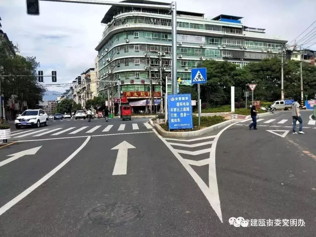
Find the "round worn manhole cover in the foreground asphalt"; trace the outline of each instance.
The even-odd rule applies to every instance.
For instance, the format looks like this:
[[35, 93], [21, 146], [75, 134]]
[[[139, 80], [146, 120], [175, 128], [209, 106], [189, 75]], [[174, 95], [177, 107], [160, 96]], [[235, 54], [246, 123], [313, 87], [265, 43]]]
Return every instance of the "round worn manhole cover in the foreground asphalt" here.
[[88, 222], [96, 225], [118, 226], [142, 216], [140, 207], [131, 204], [112, 203], [94, 207]]

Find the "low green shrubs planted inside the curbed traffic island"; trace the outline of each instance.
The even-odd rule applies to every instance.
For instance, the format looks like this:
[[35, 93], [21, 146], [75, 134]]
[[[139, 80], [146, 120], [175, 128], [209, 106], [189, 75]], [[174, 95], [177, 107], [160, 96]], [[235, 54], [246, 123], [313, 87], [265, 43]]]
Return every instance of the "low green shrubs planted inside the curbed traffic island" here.
[[[193, 129], [173, 129], [170, 130], [172, 132], [189, 132], [189, 131], [197, 131], [204, 127], [210, 127], [215, 124], [219, 124], [226, 121], [223, 116], [201, 116], [200, 126], [198, 126], [198, 117], [193, 116]], [[169, 131], [169, 125], [167, 123], [159, 124], [162, 129], [165, 131]]]

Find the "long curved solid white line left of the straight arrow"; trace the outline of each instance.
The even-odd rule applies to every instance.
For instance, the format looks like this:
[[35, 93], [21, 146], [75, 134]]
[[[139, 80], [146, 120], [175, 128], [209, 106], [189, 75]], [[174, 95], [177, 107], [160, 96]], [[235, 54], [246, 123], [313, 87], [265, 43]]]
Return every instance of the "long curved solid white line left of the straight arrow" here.
[[82, 150], [82, 148], [85, 147], [85, 145], [87, 145], [88, 141], [90, 140], [90, 136], [87, 137], [87, 139], [82, 143], [82, 145], [76, 149], [74, 151], [74, 153], [72, 153], [70, 156], [67, 157], [66, 160], [64, 160], [63, 162], [61, 162], [58, 166], [56, 166], [54, 169], [52, 169], [52, 171], [50, 171], [49, 173], [47, 173], [43, 178], [41, 178], [40, 180], [38, 180], [35, 184], [31, 185], [29, 188], [27, 188], [25, 191], [21, 192], [18, 196], [16, 196], [15, 198], [13, 198], [11, 201], [9, 201], [8, 203], [6, 203], [5, 205], [3, 205], [0, 208], [0, 216], [6, 212], [7, 210], [9, 210], [11, 207], [13, 207], [15, 204], [17, 204], [18, 202], [20, 202], [24, 197], [26, 197], [27, 195], [29, 195], [32, 191], [34, 191], [36, 188], [38, 188], [42, 183], [44, 183], [47, 179], [49, 179], [50, 177], [52, 177], [58, 170], [60, 170], [65, 164], [67, 164], [72, 158], [75, 157], [75, 155], [77, 155], [79, 153], [79, 151]]

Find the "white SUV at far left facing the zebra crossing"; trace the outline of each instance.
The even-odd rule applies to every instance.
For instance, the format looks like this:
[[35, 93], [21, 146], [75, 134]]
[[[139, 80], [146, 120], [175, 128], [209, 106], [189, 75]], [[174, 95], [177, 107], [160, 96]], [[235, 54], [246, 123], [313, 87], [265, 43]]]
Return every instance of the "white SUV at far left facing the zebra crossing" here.
[[15, 119], [15, 127], [35, 126], [39, 128], [41, 124], [48, 125], [48, 116], [42, 109], [27, 109], [19, 117]]

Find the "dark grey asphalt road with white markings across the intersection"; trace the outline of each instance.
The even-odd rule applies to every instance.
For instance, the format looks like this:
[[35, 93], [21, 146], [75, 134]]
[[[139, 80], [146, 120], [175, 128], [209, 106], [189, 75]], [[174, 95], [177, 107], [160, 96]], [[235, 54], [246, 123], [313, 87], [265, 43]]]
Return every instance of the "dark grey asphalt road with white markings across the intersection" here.
[[[285, 137], [266, 130], [291, 130], [289, 112], [193, 139], [163, 138], [148, 119], [12, 129], [16, 143], [0, 149], [0, 236], [313, 236], [310, 114], [306, 134]], [[305, 226], [229, 224], [240, 216]]]

